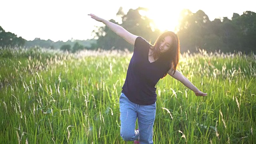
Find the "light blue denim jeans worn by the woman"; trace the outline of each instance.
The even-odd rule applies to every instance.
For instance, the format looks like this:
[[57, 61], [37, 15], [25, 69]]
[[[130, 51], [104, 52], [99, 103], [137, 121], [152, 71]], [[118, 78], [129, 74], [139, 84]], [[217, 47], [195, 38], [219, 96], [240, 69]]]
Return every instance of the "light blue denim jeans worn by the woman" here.
[[[140, 139], [140, 144], [153, 144], [153, 125], [156, 117], [156, 102], [144, 106], [134, 104], [123, 93], [120, 99], [120, 136], [125, 141]], [[138, 118], [138, 131], [135, 130]]]

